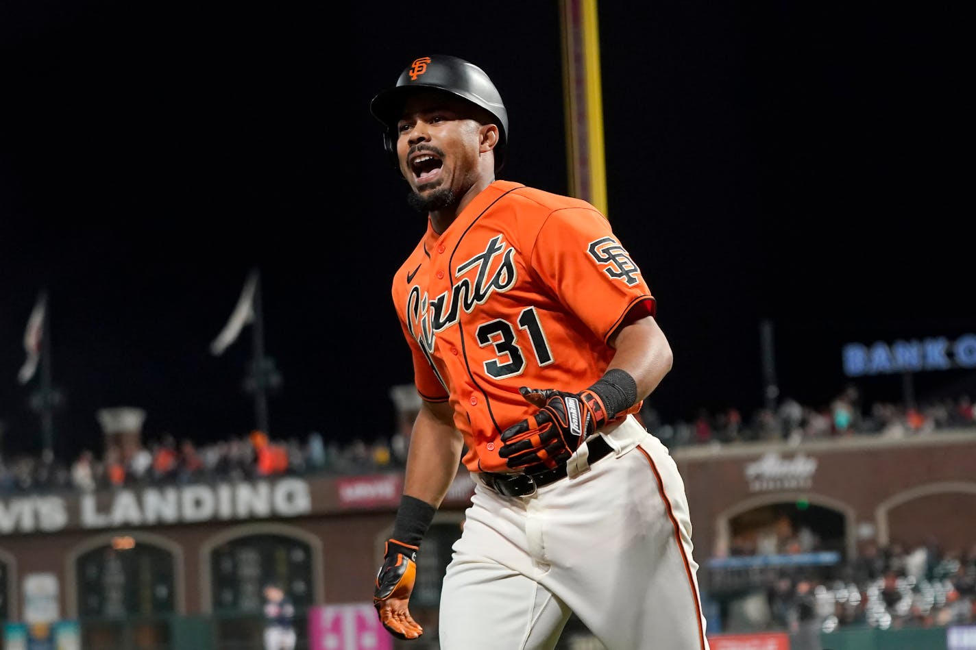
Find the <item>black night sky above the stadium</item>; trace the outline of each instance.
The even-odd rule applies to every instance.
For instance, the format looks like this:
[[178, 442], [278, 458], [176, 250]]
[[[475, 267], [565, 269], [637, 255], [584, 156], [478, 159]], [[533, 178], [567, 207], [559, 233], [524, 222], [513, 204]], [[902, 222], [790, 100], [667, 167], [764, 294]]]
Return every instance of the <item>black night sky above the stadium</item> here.
[[[502, 178], [568, 191], [558, 5], [221, 6], [18, 0], [0, 8], [0, 422], [40, 447], [21, 338], [50, 295], [56, 450], [101, 448], [97, 409], [146, 437], [254, 427], [260, 266], [283, 376], [273, 437], [372, 440], [411, 381], [389, 299], [425, 219], [368, 103], [419, 56], [481, 65], [510, 120]], [[473, 4], [473, 3], [472, 3]], [[666, 421], [784, 395], [826, 403], [840, 346], [976, 329], [960, 17], [885, 3], [600, 3], [608, 217], [659, 300]], [[965, 116], [965, 117], [963, 117]], [[3, 379], [6, 378], [6, 379]], [[921, 398], [973, 373], [920, 373]], [[865, 380], [898, 400], [898, 378]]]

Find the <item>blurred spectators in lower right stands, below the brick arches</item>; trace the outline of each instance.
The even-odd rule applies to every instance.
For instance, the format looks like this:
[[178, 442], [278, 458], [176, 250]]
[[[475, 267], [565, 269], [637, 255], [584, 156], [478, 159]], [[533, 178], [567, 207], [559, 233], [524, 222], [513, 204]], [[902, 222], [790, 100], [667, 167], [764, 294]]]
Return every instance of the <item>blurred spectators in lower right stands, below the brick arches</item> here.
[[943, 548], [932, 538], [920, 545], [893, 540], [883, 547], [865, 540], [853, 557], [837, 555], [834, 563], [771, 561], [815, 558], [836, 546], [837, 541], [825, 544], [786, 515], [737, 536], [729, 555], [767, 561], [712, 568], [712, 589], [754, 596], [762, 586], [767, 614], [736, 622], [726, 606], [723, 618], [732, 619], [733, 627], [800, 635], [803, 630], [819, 633], [847, 626], [887, 630], [976, 624], [976, 538], [967, 548]]

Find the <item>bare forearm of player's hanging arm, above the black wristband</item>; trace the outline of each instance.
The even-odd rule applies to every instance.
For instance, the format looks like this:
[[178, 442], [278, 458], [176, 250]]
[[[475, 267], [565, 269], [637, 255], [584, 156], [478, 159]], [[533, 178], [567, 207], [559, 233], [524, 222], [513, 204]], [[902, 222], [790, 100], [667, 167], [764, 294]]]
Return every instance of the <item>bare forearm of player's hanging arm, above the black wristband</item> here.
[[407, 454], [403, 493], [440, 507], [458, 473], [464, 439], [447, 405], [422, 408], [414, 423]]

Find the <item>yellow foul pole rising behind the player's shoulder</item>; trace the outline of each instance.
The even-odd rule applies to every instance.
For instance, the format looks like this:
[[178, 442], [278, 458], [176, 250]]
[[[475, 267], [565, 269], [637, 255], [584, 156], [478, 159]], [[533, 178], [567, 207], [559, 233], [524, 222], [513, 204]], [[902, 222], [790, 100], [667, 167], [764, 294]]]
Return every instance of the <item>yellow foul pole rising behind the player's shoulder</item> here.
[[560, 0], [569, 193], [607, 214], [596, 0]]

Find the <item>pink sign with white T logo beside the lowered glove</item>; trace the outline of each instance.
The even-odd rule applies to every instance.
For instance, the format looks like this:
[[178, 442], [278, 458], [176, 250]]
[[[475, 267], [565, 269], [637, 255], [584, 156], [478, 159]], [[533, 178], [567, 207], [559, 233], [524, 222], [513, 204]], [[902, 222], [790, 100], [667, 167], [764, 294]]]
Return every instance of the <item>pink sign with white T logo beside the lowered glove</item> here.
[[392, 650], [372, 603], [308, 608], [308, 650]]

